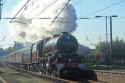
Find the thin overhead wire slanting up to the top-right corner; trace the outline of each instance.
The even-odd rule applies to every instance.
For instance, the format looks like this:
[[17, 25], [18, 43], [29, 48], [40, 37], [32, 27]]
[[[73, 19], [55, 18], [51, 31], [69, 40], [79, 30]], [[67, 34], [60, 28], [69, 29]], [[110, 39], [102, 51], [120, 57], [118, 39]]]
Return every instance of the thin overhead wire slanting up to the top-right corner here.
[[102, 8], [102, 9], [99, 9], [99, 10], [97, 10], [97, 11], [88, 13], [88, 14], [85, 15], [85, 17], [86, 17], [86, 16], [93, 15], [93, 14], [96, 14], [96, 13], [98, 13], [98, 12], [101, 12], [101, 11], [103, 11], [103, 10], [105, 10], [105, 9], [111, 8], [111, 7], [115, 6], [115, 5], [118, 5], [118, 4], [123, 3], [123, 2], [125, 2], [125, 0], [121, 0], [121, 1], [119, 1], [119, 2], [117, 2], [117, 3], [114, 3], [114, 4], [112, 4], [112, 5], [109, 5], [109, 6], [107, 6], [107, 7]]

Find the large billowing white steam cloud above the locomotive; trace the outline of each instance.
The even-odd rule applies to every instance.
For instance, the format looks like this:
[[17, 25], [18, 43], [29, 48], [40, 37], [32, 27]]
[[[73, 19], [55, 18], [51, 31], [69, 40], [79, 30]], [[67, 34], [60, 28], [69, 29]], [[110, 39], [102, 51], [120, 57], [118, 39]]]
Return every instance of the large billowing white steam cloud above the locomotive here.
[[[14, 10], [12, 16], [19, 11], [26, 0], [22, 0]], [[68, 4], [59, 17], [52, 23], [53, 19], [65, 6], [67, 0], [31, 0], [20, 14], [10, 24], [11, 37], [16, 40], [30, 42], [38, 41], [44, 37], [50, 37], [62, 32], [75, 31], [76, 13], [72, 4]], [[37, 19], [51, 18], [51, 19]]]

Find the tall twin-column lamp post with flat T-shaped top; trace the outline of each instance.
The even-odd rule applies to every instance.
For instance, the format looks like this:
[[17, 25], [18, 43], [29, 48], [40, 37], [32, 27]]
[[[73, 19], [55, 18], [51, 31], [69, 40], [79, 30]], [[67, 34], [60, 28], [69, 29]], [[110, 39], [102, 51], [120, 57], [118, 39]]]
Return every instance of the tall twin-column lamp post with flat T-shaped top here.
[[108, 67], [108, 31], [107, 31], [107, 18], [110, 19], [110, 56], [112, 56], [112, 17], [118, 17], [117, 15], [112, 16], [95, 16], [95, 18], [105, 17], [106, 19], [106, 55], [107, 55], [107, 67]]

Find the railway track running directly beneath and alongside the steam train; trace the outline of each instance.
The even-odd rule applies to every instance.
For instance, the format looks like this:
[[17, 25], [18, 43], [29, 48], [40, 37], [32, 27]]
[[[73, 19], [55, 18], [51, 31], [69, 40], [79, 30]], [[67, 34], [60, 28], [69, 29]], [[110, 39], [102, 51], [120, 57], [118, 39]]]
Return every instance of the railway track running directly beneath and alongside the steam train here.
[[9, 64], [7, 64], [7, 66], [10, 67], [11, 69], [15, 70], [15, 71], [22, 72], [22, 73], [28, 73], [32, 76], [35, 76], [35, 77], [41, 78], [43, 80], [46, 80], [46, 81], [48, 81], [48, 83], [106, 83], [106, 82], [103, 82], [103, 81], [92, 81], [92, 80], [87, 80], [87, 79], [84, 79], [82, 81], [71, 81], [71, 80], [66, 80], [66, 79], [62, 79], [62, 78], [41, 75], [40, 73], [20, 69], [20, 68], [14, 67], [14, 66], [9, 65]]

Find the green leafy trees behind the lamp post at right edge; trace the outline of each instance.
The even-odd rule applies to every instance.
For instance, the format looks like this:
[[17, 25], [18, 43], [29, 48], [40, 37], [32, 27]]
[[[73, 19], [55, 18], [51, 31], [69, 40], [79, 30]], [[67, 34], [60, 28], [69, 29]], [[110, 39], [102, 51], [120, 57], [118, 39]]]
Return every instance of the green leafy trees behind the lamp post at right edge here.
[[[109, 50], [109, 43], [108, 43], [108, 50]], [[103, 53], [104, 58], [106, 58], [106, 49], [107, 49], [106, 42], [102, 42], [101, 44], [97, 44], [96, 52], [100, 51]], [[108, 54], [108, 60], [111, 63], [125, 63], [125, 41], [123, 39], [119, 39], [118, 37], [113, 41], [112, 44], [112, 56]]]

